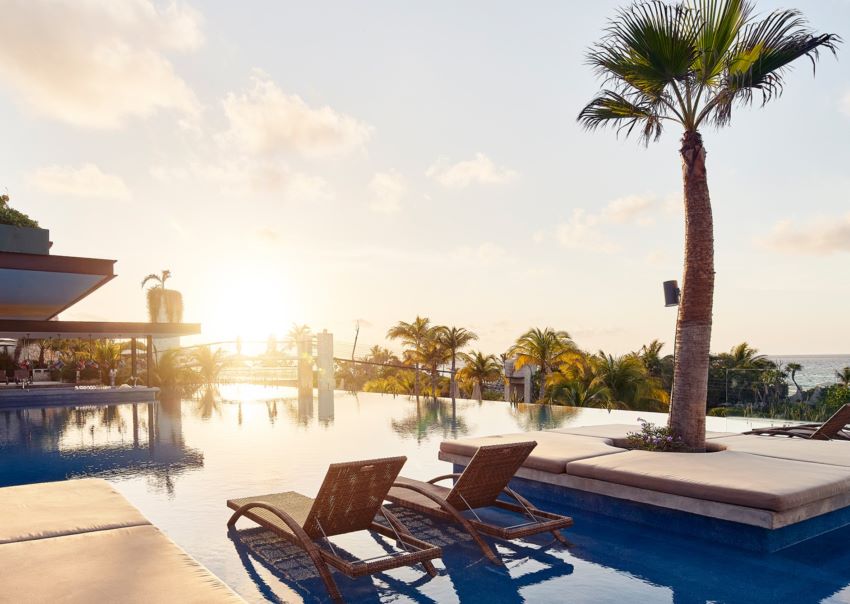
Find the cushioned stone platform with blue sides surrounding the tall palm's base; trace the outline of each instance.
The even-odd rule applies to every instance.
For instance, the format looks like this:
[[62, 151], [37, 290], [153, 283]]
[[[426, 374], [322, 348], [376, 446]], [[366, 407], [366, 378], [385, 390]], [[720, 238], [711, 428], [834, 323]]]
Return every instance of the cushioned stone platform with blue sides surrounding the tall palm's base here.
[[443, 441], [459, 471], [484, 444], [536, 440], [512, 486], [578, 508], [756, 551], [850, 525], [850, 442], [709, 433], [706, 454], [629, 451], [625, 424]]

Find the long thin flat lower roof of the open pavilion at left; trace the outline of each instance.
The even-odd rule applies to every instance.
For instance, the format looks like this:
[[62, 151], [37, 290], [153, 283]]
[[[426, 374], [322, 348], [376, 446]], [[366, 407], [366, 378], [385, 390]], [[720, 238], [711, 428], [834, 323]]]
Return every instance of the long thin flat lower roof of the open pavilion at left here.
[[121, 323], [114, 321], [36, 321], [0, 319], [0, 338], [32, 340], [83, 338], [177, 338], [201, 333], [200, 323]]

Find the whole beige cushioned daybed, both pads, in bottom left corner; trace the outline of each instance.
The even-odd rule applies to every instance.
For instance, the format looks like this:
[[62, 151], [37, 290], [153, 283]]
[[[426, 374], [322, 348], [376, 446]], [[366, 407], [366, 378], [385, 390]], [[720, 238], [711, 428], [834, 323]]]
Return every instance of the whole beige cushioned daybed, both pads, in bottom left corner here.
[[0, 489], [9, 602], [244, 602], [99, 479]]

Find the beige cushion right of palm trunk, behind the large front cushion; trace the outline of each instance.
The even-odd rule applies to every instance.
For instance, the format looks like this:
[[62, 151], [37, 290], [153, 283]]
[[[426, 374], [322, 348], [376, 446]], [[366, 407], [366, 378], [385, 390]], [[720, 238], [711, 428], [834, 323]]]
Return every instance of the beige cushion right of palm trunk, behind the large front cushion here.
[[843, 440], [741, 434], [715, 442], [725, 445], [730, 451], [850, 467], [850, 442]]

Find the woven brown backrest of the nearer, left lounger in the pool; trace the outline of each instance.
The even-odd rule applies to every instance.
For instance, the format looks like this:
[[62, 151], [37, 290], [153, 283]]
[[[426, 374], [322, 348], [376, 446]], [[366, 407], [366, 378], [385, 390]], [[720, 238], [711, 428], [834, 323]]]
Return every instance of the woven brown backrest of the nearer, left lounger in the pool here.
[[402, 456], [331, 464], [304, 530], [319, 538], [368, 528], [405, 461]]

